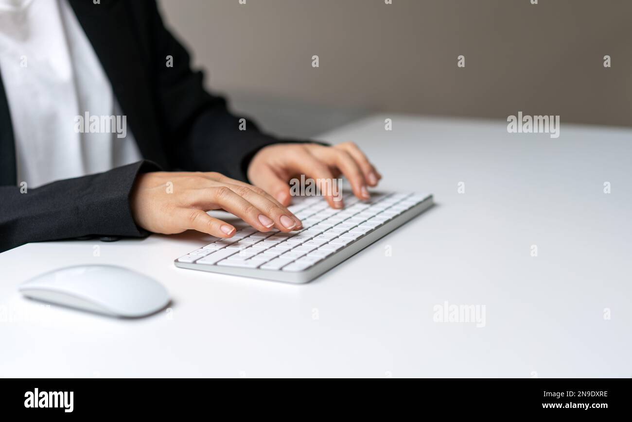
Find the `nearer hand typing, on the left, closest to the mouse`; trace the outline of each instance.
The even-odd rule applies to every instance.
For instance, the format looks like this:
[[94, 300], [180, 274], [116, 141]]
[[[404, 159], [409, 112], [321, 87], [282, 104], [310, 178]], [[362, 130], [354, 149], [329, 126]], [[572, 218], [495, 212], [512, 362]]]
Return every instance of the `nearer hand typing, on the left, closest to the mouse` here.
[[289, 232], [302, 227], [288, 208], [265, 191], [216, 172], [150, 172], [140, 174], [130, 196], [135, 222], [164, 234], [194, 229], [230, 238], [235, 228], [210, 217], [207, 210], [224, 209], [258, 231], [276, 227]]

